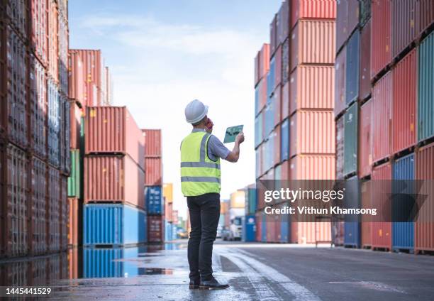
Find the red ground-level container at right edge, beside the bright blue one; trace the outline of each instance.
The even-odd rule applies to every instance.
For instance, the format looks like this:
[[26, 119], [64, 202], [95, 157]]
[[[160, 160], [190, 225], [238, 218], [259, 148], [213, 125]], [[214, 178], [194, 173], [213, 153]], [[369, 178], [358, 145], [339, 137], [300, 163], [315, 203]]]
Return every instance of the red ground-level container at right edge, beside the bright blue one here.
[[[434, 180], [434, 143], [424, 146], [416, 153], [416, 180]], [[429, 187], [430, 181], [419, 190], [419, 194], [429, 195], [425, 200], [425, 208], [419, 210], [418, 219], [415, 223], [415, 251], [434, 251], [434, 222], [432, 221], [433, 213], [433, 191]], [[428, 222], [430, 221], [430, 222]]]

